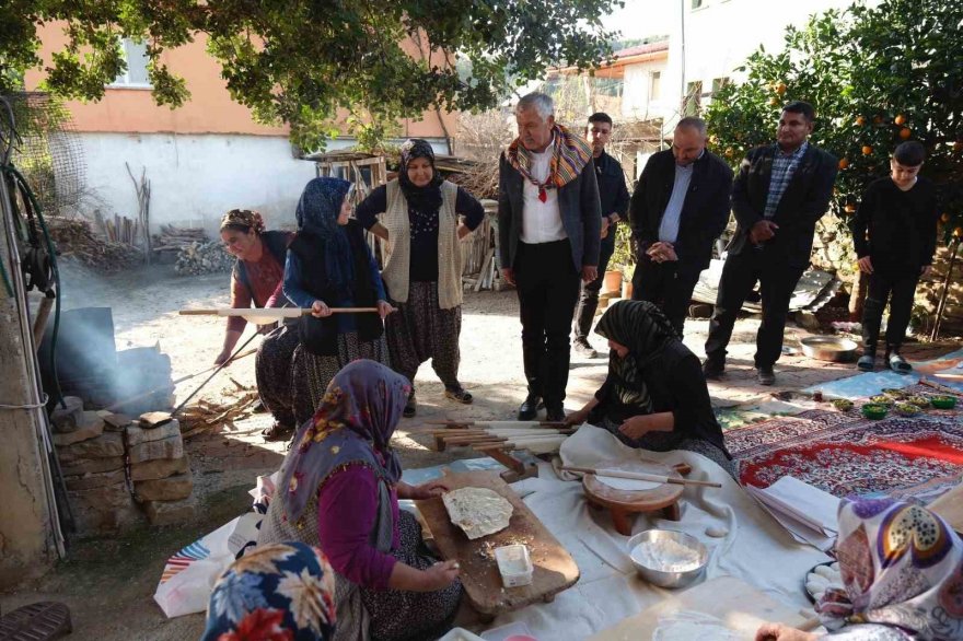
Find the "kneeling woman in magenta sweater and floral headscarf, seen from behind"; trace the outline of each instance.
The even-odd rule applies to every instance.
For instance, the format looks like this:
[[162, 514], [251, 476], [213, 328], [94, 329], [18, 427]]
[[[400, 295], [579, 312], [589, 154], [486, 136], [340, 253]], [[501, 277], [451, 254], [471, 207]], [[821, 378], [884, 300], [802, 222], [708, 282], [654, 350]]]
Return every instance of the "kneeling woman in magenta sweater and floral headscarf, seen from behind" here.
[[281, 466], [278, 496], [258, 544], [318, 546], [335, 570], [335, 639], [433, 639], [448, 629], [461, 598], [457, 563], [438, 562], [421, 526], [398, 499], [445, 490], [413, 487], [391, 438], [408, 398], [408, 381], [380, 363], [355, 361], [332, 381], [314, 417], [298, 430]]

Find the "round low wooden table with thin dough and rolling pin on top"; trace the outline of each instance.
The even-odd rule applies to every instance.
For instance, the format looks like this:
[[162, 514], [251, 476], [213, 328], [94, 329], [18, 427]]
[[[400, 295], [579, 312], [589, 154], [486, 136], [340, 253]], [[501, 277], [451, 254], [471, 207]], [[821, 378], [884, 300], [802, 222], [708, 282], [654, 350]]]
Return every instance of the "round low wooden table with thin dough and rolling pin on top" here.
[[[645, 471], [674, 478], [682, 478], [682, 474], [689, 471], [687, 465], [669, 467], [654, 461], [599, 463], [594, 467], [595, 469]], [[631, 516], [635, 514], [661, 510], [665, 518], [678, 521], [678, 497], [685, 489], [685, 486], [662, 483], [651, 490], [616, 490], [600, 481], [594, 474], [587, 474], [582, 478], [582, 486], [585, 488], [585, 499], [589, 504], [608, 510], [616, 532], [623, 536], [631, 535]]]

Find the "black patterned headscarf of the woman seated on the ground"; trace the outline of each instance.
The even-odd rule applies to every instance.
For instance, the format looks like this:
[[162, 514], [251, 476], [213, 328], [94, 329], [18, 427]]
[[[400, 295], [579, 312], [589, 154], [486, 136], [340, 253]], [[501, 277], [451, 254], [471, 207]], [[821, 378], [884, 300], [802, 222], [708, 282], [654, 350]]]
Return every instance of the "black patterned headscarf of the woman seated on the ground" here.
[[671, 340], [682, 339], [678, 331], [657, 305], [618, 301], [599, 319], [595, 334], [628, 348], [625, 358], [615, 352], [608, 357], [608, 375], [618, 400], [651, 413], [652, 398], [641, 370], [661, 357]]

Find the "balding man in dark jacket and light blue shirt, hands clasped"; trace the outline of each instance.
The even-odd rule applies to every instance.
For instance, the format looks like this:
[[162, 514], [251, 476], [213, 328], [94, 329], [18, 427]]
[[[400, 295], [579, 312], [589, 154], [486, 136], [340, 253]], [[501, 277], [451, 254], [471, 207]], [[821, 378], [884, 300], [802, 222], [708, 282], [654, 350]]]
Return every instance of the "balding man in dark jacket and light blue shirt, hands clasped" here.
[[633, 195], [633, 299], [662, 308], [682, 334], [699, 273], [729, 222], [732, 170], [706, 150], [706, 123], [683, 118], [672, 149], [652, 154]]

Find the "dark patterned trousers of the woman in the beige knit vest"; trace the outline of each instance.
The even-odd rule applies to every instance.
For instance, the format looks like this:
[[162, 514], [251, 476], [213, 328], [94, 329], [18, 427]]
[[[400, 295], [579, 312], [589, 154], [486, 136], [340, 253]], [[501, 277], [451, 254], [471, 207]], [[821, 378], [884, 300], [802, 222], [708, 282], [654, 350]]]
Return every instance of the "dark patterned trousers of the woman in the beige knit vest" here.
[[394, 303], [398, 308], [385, 319], [392, 369], [415, 383], [415, 374], [425, 361], [445, 387], [459, 387], [459, 335], [462, 333], [462, 307], [438, 306], [437, 282], [411, 282], [408, 302]]

